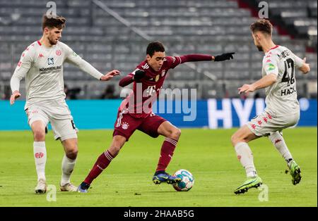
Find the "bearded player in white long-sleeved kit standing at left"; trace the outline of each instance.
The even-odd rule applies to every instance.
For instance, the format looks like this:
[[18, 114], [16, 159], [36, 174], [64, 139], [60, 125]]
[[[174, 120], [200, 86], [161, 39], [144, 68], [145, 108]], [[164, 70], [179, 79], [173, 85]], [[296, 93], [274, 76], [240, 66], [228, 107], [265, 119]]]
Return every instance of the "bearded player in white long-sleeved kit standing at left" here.
[[11, 78], [13, 94], [10, 103], [12, 105], [20, 96], [20, 80], [25, 77], [25, 113], [28, 115], [28, 124], [33, 131], [34, 138], [33, 150], [37, 171], [36, 194], [44, 194], [47, 188], [45, 130], [49, 122], [52, 125], [54, 139], [60, 139], [65, 151], [61, 163], [60, 189], [61, 191], [77, 191], [77, 187], [70, 182], [78, 153], [77, 129], [65, 102], [63, 63], [72, 63], [102, 81], [110, 80], [115, 75], [119, 75], [118, 70], [112, 70], [106, 75], [102, 75], [73, 52], [69, 46], [59, 42], [65, 22], [66, 19], [60, 16], [54, 18], [43, 16], [42, 38], [30, 44], [23, 51]]

